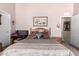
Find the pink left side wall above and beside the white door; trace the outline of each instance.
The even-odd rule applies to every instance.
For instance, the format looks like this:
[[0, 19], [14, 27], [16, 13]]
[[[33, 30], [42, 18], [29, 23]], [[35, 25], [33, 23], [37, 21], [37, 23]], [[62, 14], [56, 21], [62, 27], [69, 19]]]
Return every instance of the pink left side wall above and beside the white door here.
[[[15, 20], [15, 4], [14, 3], [0, 3], [0, 9], [6, 11], [11, 15], [11, 20]], [[11, 32], [15, 30], [14, 26], [11, 24]]]

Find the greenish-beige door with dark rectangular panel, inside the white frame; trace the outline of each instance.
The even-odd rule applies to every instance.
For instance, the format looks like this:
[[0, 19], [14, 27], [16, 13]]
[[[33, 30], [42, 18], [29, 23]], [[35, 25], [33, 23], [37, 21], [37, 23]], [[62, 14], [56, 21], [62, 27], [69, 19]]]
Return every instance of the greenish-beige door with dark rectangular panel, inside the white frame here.
[[71, 17], [62, 17], [62, 38], [64, 42], [70, 43]]

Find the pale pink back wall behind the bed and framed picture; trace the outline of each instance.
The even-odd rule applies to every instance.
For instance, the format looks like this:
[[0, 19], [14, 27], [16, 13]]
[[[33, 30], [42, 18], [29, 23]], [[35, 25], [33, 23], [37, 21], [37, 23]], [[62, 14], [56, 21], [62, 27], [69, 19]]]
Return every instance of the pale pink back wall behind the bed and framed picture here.
[[[61, 28], [57, 28], [60, 23], [60, 16], [65, 12], [73, 14], [73, 4], [53, 3], [53, 4], [19, 4], [15, 5], [16, 29], [30, 29], [33, 27], [33, 16], [48, 16], [48, 27], [51, 27], [51, 36], [61, 37]], [[61, 23], [60, 23], [61, 24]]]

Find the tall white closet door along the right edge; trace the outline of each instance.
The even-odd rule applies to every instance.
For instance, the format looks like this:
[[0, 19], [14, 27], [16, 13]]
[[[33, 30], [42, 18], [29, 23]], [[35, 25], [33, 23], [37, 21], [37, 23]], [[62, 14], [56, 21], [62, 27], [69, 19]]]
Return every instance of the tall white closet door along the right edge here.
[[71, 44], [79, 48], [79, 14], [71, 20]]

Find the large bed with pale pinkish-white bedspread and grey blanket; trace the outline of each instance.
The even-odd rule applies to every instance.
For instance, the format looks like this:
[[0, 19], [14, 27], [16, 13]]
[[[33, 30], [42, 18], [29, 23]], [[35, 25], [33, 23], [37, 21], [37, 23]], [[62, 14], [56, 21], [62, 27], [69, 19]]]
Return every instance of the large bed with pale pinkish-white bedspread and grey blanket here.
[[[26, 39], [25, 39], [26, 40]], [[6, 48], [2, 56], [74, 56], [73, 52], [62, 44], [52, 40], [22, 40]], [[36, 43], [35, 43], [36, 42]], [[41, 42], [41, 43], [40, 43]]]

